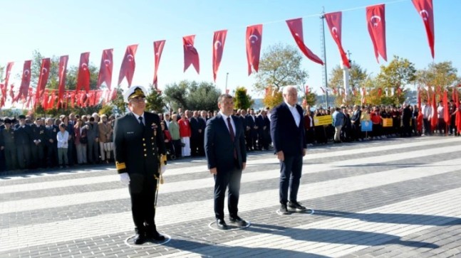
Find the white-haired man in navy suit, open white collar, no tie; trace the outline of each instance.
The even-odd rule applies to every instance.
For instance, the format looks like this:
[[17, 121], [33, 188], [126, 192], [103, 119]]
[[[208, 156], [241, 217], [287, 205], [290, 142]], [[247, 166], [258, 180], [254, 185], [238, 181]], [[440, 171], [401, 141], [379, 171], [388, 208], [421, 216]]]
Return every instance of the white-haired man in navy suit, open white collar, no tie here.
[[280, 161], [280, 213], [289, 214], [288, 201], [291, 210], [306, 210], [298, 203], [297, 195], [307, 141], [302, 120], [303, 109], [296, 104], [296, 87], [284, 87], [283, 97], [284, 102], [271, 112], [271, 137], [275, 154]]

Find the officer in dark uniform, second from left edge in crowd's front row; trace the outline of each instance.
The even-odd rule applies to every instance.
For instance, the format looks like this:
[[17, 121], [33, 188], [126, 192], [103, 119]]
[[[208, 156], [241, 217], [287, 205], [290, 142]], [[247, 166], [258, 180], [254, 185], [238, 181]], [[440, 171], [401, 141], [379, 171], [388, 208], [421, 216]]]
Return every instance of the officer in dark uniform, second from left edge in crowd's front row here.
[[14, 129], [14, 142], [18, 151], [19, 168], [25, 169], [31, 166], [31, 142], [32, 129], [26, 124], [26, 116], [19, 116], [19, 124]]

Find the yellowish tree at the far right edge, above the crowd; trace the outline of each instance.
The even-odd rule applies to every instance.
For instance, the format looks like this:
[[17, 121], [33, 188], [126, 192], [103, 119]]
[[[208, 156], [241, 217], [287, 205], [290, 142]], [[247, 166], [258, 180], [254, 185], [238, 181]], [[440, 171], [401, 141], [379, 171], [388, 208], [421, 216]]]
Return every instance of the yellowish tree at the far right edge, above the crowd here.
[[[459, 80], [457, 69], [453, 67], [451, 61], [430, 63], [428, 68], [416, 72], [416, 82], [418, 82], [418, 85], [433, 87], [432, 90], [435, 92], [442, 92]], [[427, 96], [425, 92], [426, 90], [421, 92], [422, 96]], [[451, 91], [448, 92], [451, 95]]]

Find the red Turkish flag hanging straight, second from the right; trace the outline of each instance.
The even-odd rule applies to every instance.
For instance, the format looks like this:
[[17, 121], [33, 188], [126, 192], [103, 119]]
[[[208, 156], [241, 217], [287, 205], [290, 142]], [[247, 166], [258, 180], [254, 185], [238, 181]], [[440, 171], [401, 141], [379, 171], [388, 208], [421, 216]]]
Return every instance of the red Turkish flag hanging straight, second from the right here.
[[384, 4], [368, 6], [366, 8], [366, 23], [368, 24], [368, 33], [370, 33], [373, 48], [375, 49], [376, 61], [379, 63], [378, 55], [381, 55], [387, 62], [388, 55], [385, 50]]

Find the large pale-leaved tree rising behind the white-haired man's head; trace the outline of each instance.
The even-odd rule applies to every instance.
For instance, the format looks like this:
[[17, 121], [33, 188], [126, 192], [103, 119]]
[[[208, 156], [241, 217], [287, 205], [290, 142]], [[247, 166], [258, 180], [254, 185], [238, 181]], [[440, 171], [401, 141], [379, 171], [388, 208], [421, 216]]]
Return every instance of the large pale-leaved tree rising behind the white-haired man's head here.
[[299, 50], [292, 45], [279, 43], [269, 46], [259, 61], [254, 90], [263, 92], [269, 85], [276, 90], [286, 85], [297, 85], [302, 90], [309, 77], [307, 71], [301, 69], [302, 59]]

